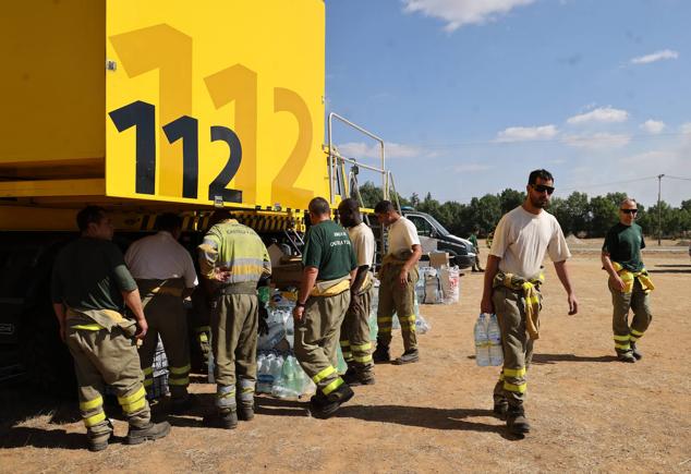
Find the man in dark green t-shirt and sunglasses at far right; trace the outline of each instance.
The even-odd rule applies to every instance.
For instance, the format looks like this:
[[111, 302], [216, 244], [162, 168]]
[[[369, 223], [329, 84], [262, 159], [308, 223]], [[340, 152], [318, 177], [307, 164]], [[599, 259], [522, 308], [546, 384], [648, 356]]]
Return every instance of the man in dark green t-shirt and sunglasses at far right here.
[[[627, 197], [619, 206], [619, 222], [609, 229], [603, 245], [603, 268], [609, 274], [609, 291], [614, 306], [613, 331], [617, 358], [633, 363], [643, 357], [637, 341], [643, 337], [653, 319], [648, 293], [654, 289], [641, 259], [645, 240], [634, 222], [635, 199]], [[629, 309], [633, 319], [629, 327]]]

